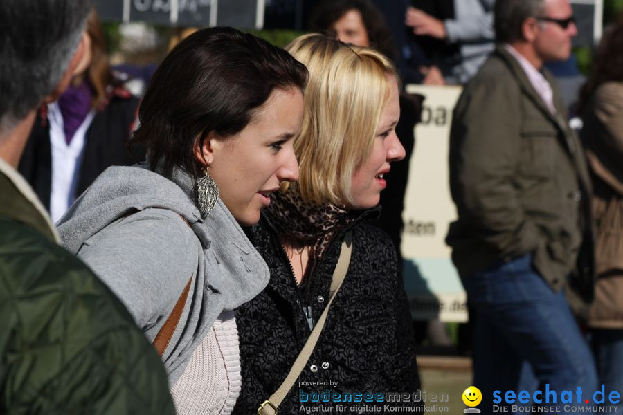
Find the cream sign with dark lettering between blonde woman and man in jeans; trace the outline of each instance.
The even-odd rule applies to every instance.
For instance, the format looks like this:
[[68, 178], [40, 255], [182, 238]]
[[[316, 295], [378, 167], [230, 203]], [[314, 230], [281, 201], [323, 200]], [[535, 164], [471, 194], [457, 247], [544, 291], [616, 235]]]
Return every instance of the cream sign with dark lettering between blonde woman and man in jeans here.
[[439, 318], [467, 322], [467, 296], [445, 238], [456, 218], [450, 196], [448, 145], [452, 111], [459, 86], [407, 85], [408, 93], [426, 97], [422, 122], [415, 127], [404, 201], [404, 285], [415, 320]]

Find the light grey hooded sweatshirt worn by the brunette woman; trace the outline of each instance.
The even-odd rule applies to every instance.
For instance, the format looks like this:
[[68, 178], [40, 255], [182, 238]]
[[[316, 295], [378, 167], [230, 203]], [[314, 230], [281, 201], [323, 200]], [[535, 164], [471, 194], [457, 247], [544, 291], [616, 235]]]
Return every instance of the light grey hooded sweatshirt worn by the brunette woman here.
[[193, 189], [180, 170], [168, 179], [144, 164], [109, 167], [58, 223], [65, 248], [114, 291], [151, 342], [192, 277], [162, 356], [170, 385], [219, 314], [269, 281], [264, 260], [223, 202], [201, 219]]

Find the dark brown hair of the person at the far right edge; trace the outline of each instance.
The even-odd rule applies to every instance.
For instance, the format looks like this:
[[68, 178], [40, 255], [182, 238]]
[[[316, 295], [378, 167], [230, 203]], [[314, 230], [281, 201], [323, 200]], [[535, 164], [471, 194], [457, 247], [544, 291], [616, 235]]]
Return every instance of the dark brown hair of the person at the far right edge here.
[[584, 109], [599, 85], [610, 81], [623, 81], [623, 15], [613, 28], [606, 30], [599, 43], [593, 70], [579, 93], [578, 111]]

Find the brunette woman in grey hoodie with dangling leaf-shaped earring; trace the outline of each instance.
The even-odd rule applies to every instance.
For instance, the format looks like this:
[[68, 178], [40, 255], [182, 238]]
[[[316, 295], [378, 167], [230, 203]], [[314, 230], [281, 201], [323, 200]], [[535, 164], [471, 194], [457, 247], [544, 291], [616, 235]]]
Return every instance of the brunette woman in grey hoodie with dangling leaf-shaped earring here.
[[66, 248], [161, 352], [180, 414], [229, 414], [240, 392], [233, 310], [269, 278], [241, 225], [298, 178], [306, 82], [302, 64], [257, 37], [190, 35], [141, 104], [134, 142], [148, 163], [107, 169], [60, 221]]

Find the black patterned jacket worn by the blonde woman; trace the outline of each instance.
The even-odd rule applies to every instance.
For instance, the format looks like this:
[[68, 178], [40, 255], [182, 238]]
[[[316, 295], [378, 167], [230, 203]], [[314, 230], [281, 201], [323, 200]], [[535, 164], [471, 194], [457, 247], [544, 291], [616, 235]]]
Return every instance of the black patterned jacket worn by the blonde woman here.
[[[269, 216], [263, 214], [251, 229], [249, 238], [267, 262], [271, 279], [260, 295], [236, 311], [242, 391], [233, 414], [255, 414], [287, 376], [311, 332], [306, 313], [311, 311], [315, 323], [329, 301], [333, 270], [348, 229], [353, 232], [353, 248], [345, 281], [316, 348], [279, 413], [299, 414], [302, 405], [377, 405], [373, 412], [382, 413], [388, 393], [413, 395], [419, 389], [413, 332], [404, 286], [397, 276], [395, 249], [382, 230], [365, 223], [369, 216], [370, 211], [361, 214], [336, 235], [309, 279], [307, 294], [296, 286]], [[309, 402], [313, 397], [310, 393], [324, 392], [323, 398], [327, 398], [327, 391], [332, 394], [330, 400], [334, 400], [334, 393], [341, 394], [340, 400], [345, 393], [371, 393], [375, 394], [374, 402], [365, 402], [365, 395], [364, 402], [357, 404]], [[383, 403], [378, 403], [377, 394], [383, 394]], [[353, 399], [358, 398], [353, 395]]]

